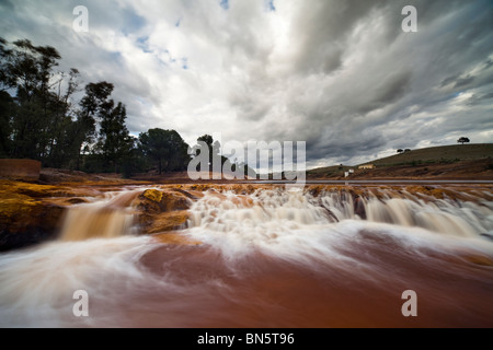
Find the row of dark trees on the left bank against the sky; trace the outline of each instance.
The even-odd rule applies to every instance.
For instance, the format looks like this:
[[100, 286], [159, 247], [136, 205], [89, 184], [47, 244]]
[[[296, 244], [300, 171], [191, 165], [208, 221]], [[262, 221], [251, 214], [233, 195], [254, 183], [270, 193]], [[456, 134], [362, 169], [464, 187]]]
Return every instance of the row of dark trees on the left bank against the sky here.
[[[54, 47], [0, 38], [0, 158], [89, 173], [186, 170], [188, 144], [179, 132], [153, 128], [131, 136], [125, 105], [111, 96], [114, 85], [82, 88], [76, 68], [56, 71], [60, 59]], [[197, 140], [214, 144], [208, 135]]]

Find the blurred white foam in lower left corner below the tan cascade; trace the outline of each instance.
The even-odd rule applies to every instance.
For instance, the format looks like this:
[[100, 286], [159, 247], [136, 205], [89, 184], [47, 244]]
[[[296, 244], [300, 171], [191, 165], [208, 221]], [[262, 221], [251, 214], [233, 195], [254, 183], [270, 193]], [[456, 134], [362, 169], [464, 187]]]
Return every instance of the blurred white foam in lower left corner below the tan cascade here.
[[73, 292], [85, 290], [91, 300], [111, 303], [112, 279], [128, 281], [127, 288], [149, 279], [137, 261], [153, 247], [149, 237], [126, 236], [53, 242], [0, 255], [0, 327], [90, 323], [73, 317]]

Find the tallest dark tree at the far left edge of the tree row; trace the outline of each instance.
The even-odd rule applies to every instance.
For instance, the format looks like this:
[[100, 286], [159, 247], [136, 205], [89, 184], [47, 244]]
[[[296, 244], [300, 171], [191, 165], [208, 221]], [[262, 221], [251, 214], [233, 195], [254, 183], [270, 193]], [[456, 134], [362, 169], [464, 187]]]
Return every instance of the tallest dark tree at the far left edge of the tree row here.
[[59, 59], [54, 47], [34, 46], [27, 39], [10, 45], [0, 38], [0, 152], [5, 155], [38, 159], [57, 167], [70, 156], [70, 98], [79, 72], [71, 69], [67, 81], [64, 72], [54, 71]]

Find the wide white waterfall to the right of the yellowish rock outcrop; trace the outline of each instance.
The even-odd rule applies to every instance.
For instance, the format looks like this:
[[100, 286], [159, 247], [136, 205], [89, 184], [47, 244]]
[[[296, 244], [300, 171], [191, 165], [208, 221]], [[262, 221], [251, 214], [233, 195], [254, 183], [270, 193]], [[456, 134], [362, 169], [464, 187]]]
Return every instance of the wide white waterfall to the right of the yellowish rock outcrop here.
[[347, 191], [323, 191], [318, 196], [300, 190], [257, 190], [252, 195], [209, 191], [191, 208], [190, 226], [220, 232], [245, 228], [264, 232], [344, 220], [367, 220], [432, 232], [477, 237], [493, 230], [491, 203], [474, 198], [424, 200], [419, 195], [379, 189], [354, 198]]

